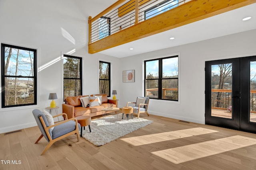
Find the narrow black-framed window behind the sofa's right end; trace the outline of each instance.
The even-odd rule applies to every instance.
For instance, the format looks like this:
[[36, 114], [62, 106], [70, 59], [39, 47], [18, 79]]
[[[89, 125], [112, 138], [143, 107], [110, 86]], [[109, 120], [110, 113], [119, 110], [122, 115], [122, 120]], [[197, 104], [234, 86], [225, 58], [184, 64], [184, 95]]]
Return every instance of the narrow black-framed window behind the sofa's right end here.
[[100, 94], [108, 94], [108, 97], [110, 97], [110, 63], [100, 61], [99, 73], [99, 92]]

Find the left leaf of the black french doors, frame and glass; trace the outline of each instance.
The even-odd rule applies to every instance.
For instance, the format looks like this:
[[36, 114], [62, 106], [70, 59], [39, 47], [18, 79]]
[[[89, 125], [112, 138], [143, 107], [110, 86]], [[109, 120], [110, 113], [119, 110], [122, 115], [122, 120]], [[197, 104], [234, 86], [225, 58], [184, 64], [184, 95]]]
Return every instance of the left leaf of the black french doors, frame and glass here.
[[205, 123], [240, 129], [240, 59], [206, 61]]

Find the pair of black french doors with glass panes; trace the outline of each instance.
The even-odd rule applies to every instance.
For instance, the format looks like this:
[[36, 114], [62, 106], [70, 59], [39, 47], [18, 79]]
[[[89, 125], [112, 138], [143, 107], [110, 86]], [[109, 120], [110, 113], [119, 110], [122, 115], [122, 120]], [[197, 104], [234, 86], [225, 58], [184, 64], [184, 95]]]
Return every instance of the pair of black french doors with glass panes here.
[[256, 56], [206, 61], [205, 122], [256, 133]]

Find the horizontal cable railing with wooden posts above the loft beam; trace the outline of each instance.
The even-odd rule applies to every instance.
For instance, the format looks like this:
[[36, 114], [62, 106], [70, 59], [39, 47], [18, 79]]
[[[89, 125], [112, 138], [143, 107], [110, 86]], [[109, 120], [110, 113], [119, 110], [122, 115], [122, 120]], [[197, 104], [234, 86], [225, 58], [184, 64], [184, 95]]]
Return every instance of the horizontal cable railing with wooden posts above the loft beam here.
[[89, 17], [89, 44], [166, 12], [190, 0], [118, 0]]

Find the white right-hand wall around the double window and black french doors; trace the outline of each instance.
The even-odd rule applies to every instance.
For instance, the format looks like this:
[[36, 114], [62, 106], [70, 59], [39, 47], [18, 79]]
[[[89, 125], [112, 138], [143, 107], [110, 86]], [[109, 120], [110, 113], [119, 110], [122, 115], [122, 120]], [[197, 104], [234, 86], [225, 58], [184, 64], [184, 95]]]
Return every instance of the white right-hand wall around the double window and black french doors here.
[[143, 96], [142, 64], [144, 60], [178, 53], [180, 54], [179, 102], [151, 99], [148, 112], [154, 115], [204, 124], [205, 61], [256, 55], [255, 45], [256, 29], [122, 58], [122, 70], [135, 70], [135, 82], [121, 83], [120, 106], [126, 106], [126, 102], [136, 102], [137, 96]]

